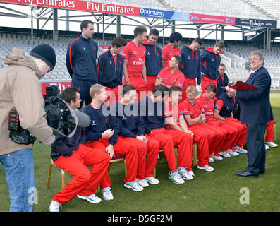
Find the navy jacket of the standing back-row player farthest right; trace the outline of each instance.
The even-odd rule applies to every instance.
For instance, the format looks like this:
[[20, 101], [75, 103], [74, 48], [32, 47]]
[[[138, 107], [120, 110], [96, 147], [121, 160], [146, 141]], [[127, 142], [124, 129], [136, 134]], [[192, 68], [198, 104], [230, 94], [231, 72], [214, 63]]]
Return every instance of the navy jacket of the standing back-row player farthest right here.
[[208, 78], [217, 79], [219, 77], [219, 64], [221, 56], [214, 53], [214, 48], [206, 48], [201, 54], [201, 70]]

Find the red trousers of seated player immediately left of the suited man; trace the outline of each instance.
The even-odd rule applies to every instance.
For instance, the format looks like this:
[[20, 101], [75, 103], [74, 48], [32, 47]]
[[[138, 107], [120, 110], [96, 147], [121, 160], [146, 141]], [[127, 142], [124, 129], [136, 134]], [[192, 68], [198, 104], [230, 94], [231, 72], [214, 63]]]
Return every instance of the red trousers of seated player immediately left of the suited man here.
[[[235, 119], [233, 117], [225, 118], [226, 121], [223, 121], [225, 124], [232, 126], [238, 130], [238, 134], [236, 136], [235, 144], [238, 146], [243, 146], [246, 143], [247, 138], [247, 126], [246, 124], [241, 124], [238, 119]], [[233, 148], [234, 145], [231, 146]]]

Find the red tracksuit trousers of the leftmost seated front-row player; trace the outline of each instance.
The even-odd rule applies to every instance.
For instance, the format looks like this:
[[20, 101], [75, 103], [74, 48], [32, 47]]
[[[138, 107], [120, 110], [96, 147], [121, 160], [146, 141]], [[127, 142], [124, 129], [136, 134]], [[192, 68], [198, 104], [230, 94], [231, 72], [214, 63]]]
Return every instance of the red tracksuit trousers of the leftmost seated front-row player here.
[[[63, 205], [75, 195], [90, 196], [106, 174], [110, 162], [108, 154], [83, 144], [73, 151], [71, 156], [61, 156], [54, 164], [68, 172], [73, 179], [52, 198]], [[90, 171], [87, 167], [92, 167]]]

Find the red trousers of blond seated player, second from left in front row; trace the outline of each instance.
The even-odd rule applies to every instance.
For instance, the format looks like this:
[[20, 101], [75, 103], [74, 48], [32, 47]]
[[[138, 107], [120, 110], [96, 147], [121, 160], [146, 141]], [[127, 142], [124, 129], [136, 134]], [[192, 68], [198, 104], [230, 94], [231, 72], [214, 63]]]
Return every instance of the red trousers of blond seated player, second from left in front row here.
[[[86, 143], [87, 147], [97, 148], [99, 150], [102, 150], [104, 153], [107, 153], [106, 148], [108, 145], [108, 138], [100, 138], [98, 141], [87, 141]], [[126, 155], [127, 174], [124, 179], [124, 182], [134, 182], [136, 179], [138, 167], [137, 146], [134, 143], [123, 141], [121, 138], [118, 138], [118, 141], [114, 144], [114, 153]], [[109, 156], [108, 153], [107, 155]], [[111, 186], [111, 181], [108, 172], [104, 174], [104, 177], [100, 182], [100, 186], [101, 188]]]

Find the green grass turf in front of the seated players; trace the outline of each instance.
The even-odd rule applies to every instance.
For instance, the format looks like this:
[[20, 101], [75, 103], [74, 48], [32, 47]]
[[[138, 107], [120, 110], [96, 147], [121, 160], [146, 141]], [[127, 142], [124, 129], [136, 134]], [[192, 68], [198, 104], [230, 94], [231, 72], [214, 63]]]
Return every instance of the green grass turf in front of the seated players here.
[[[280, 93], [272, 93], [271, 103], [276, 120], [276, 143], [280, 144], [280, 126], [277, 123], [280, 121]], [[61, 189], [61, 174], [59, 169], [53, 167], [50, 188], [47, 189], [50, 148], [36, 142], [33, 150], [38, 191], [35, 211], [45, 212], [48, 211], [51, 198]], [[224, 158], [223, 161], [210, 165], [215, 168], [214, 172], [193, 167], [195, 179], [177, 185], [167, 179], [169, 169], [161, 155], [157, 162], [157, 178], [161, 183], [135, 192], [123, 187], [123, 162], [115, 163], [110, 173], [113, 201], [102, 200], [101, 203], [92, 204], [75, 197], [63, 205], [62, 211], [280, 211], [280, 148], [267, 150], [266, 172], [257, 179], [235, 175], [236, 171], [242, 171], [247, 165], [247, 155], [244, 154]], [[0, 211], [8, 211], [8, 188], [2, 165], [0, 170]], [[67, 174], [66, 181], [70, 180], [71, 177]], [[247, 198], [245, 194], [248, 194]], [[102, 197], [100, 193], [97, 196]]]

